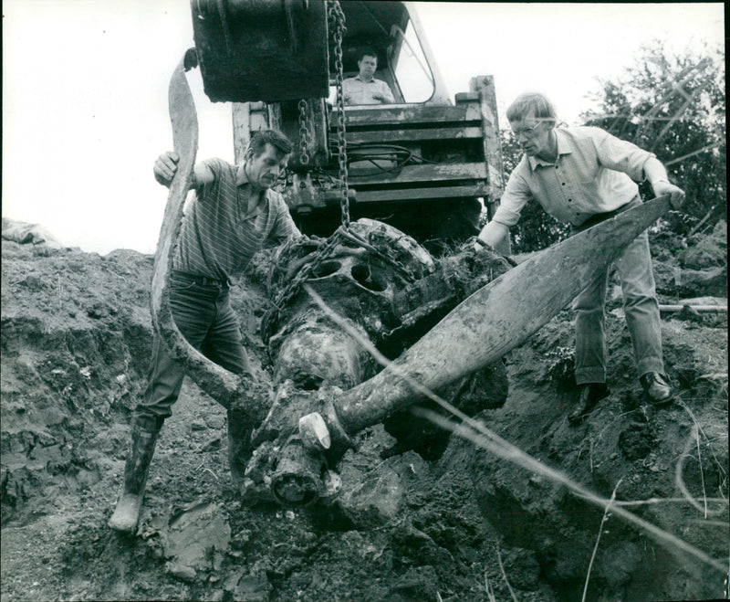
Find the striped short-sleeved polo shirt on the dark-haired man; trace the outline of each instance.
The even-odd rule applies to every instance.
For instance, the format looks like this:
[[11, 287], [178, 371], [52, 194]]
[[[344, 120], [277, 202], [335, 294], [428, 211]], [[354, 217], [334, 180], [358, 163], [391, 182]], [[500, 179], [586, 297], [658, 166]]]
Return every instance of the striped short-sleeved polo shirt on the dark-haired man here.
[[221, 159], [203, 164], [214, 181], [199, 188], [185, 206], [172, 269], [228, 280], [265, 244], [301, 236], [282, 195], [262, 191], [265, 202], [246, 215], [251, 185], [245, 170]]

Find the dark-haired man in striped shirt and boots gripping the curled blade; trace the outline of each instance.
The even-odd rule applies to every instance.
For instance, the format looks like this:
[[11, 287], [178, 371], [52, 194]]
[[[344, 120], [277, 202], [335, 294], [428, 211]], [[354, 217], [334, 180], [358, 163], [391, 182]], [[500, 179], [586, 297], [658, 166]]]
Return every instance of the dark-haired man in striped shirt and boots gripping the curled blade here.
[[[242, 272], [265, 244], [301, 236], [284, 198], [271, 189], [291, 151], [286, 136], [263, 130], [251, 137], [243, 163], [209, 159], [193, 169], [196, 194], [185, 207], [169, 275], [172, 317], [195, 349], [235, 374], [250, 367], [229, 300], [230, 277]], [[155, 179], [169, 187], [177, 163], [177, 154], [162, 153], [154, 165]], [[124, 490], [110, 519], [118, 531], [137, 530], [157, 435], [172, 415], [183, 377], [183, 366], [155, 333], [148, 384], [132, 425]], [[245, 424], [245, 416], [229, 411], [228, 452], [235, 485], [243, 480], [245, 468], [240, 459], [247, 443]]]

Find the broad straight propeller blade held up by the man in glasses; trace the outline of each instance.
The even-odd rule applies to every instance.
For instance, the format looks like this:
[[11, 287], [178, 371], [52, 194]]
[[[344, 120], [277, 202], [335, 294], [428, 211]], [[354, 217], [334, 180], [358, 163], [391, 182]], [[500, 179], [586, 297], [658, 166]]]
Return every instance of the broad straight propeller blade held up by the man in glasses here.
[[398, 373], [437, 390], [495, 362], [554, 318], [643, 230], [669, 209], [659, 196], [540, 251], [462, 301], [401, 355], [335, 402], [342, 427], [357, 432], [414, 403]]

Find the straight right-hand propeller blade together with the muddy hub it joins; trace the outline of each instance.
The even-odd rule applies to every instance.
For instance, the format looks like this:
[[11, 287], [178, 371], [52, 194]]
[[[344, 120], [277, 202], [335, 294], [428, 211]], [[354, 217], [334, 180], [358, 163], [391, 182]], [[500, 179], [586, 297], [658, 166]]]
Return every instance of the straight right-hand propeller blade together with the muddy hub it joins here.
[[[286, 475], [285, 494], [297, 491], [297, 499], [281, 498], [282, 491], [270, 479], [276, 454], [296, 447], [304, 462], [308, 453], [302, 441], [309, 441], [315, 448], [309, 455], [332, 454], [332, 450], [337, 455], [351, 444], [351, 434], [422, 397], [409, 380], [438, 392], [495, 362], [537, 332], [592, 280], [602, 277], [620, 251], [668, 208], [666, 197], [654, 199], [537, 253], [474, 292], [391, 366], [360, 385], [343, 391], [325, 383], [311, 395], [301, 391], [292, 395], [283, 387], [264, 424], [255, 432], [259, 449], [249, 463], [249, 491], [260, 493], [262, 487], [268, 487], [279, 502], [316, 499], [322, 482], [297, 481], [296, 470]], [[320, 429], [312, 437], [308, 425], [318, 420], [309, 418], [304, 422], [306, 432], [301, 434], [300, 419], [312, 413], [322, 418], [326, 433]], [[328, 440], [328, 449], [318, 444], [322, 440]], [[292, 484], [296, 482], [299, 489]]]

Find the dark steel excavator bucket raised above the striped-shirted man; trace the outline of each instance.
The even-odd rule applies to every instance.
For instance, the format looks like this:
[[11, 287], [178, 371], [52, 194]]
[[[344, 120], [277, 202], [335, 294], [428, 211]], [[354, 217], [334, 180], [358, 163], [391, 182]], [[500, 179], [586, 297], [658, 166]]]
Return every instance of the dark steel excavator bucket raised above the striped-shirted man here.
[[327, 98], [327, 4], [191, 0], [203, 90], [213, 100]]

